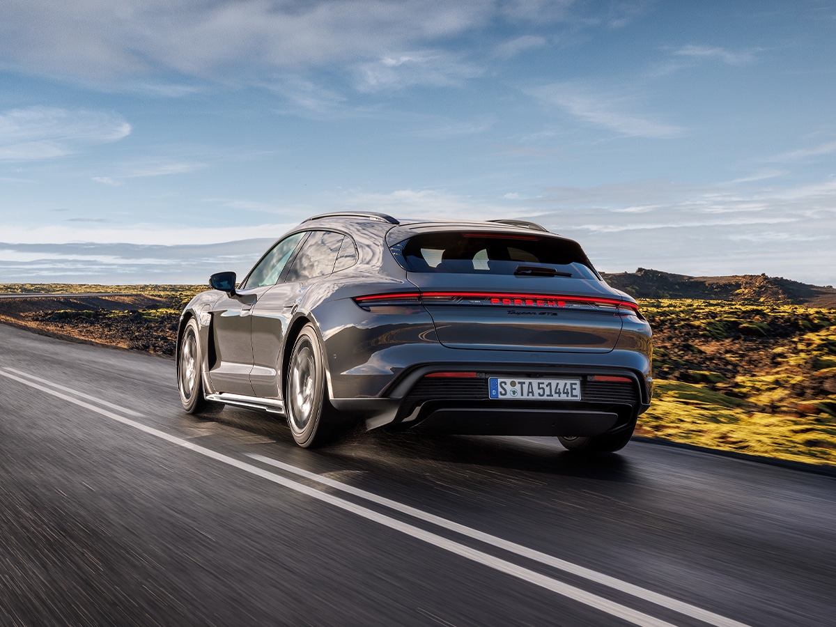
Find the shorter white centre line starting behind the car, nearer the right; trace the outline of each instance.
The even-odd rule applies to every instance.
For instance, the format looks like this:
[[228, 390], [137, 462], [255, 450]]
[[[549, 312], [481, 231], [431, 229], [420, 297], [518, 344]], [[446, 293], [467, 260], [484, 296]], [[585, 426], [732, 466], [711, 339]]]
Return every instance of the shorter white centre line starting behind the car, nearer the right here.
[[418, 518], [425, 523], [432, 523], [448, 531], [459, 533], [467, 538], [473, 538], [474, 540], [490, 544], [492, 547], [502, 548], [510, 553], [519, 555], [520, 557], [532, 559], [536, 562], [551, 566], [552, 568], [558, 568], [558, 570], [562, 570], [565, 573], [572, 573], [573, 575], [578, 575], [584, 579], [589, 579], [589, 581], [593, 581], [596, 584], [602, 584], [608, 586], [609, 588], [619, 590], [619, 592], [630, 594], [637, 599], [650, 601], [650, 603], [660, 605], [663, 608], [673, 609], [675, 612], [685, 614], [686, 616], [690, 616], [694, 619], [699, 619], [704, 623], [717, 625], [717, 627], [746, 627], [743, 623], [727, 619], [725, 616], [715, 614], [707, 609], [699, 608], [696, 605], [672, 599], [664, 594], [655, 593], [635, 584], [629, 584], [626, 581], [610, 577], [609, 575], [599, 573], [598, 571], [590, 568], [584, 568], [584, 566], [567, 562], [564, 559], [555, 558], [548, 553], [541, 553], [533, 548], [523, 547], [522, 544], [512, 543], [508, 540], [497, 538], [497, 536], [492, 536], [489, 533], [483, 533], [481, 531], [477, 531], [477, 529], [466, 527], [459, 523], [454, 523], [451, 520], [436, 516], [435, 514], [424, 512], [420, 509], [416, 509], [415, 507], [410, 507], [409, 505], [404, 505], [403, 503], [392, 501], [385, 497], [380, 497], [373, 492], [366, 492], [365, 490], [359, 489], [359, 487], [349, 486], [346, 483], [334, 481], [334, 479], [329, 479], [328, 477], [322, 477], [314, 472], [309, 472], [303, 470], [302, 468], [298, 468], [297, 466], [286, 464], [283, 461], [274, 460], [270, 457], [257, 455], [255, 453], [247, 453], [247, 457], [251, 457], [257, 461], [262, 461], [270, 466], [281, 468], [285, 472], [293, 472], [293, 474], [299, 475], [300, 477], [305, 477], [311, 481], [322, 483], [323, 485], [333, 487], [336, 490], [348, 492], [349, 494], [353, 494], [355, 497], [364, 498], [365, 500], [377, 503], [378, 505], [389, 507], [390, 509], [394, 509], [396, 512]]

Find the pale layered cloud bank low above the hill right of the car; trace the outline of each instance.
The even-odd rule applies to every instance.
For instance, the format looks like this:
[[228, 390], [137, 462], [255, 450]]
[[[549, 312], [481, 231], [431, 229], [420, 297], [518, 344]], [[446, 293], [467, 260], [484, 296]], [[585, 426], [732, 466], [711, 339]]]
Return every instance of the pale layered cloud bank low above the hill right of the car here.
[[[780, 187], [626, 181], [549, 188], [526, 204], [520, 217], [577, 239], [607, 272], [767, 273], [836, 283], [826, 263], [833, 258], [836, 181]], [[655, 209], [632, 211], [645, 206]]]

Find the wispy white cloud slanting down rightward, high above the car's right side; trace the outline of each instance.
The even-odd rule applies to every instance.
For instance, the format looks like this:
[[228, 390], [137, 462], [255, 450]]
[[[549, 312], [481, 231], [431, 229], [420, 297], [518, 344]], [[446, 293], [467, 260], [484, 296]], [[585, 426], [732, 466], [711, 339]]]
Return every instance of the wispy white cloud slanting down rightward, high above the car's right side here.
[[613, 130], [619, 135], [668, 139], [679, 137], [684, 130], [678, 126], [630, 113], [635, 106], [627, 95], [593, 93], [579, 84], [555, 83], [531, 89], [530, 94], [546, 104], [557, 105], [569, 114], [590, 124]]

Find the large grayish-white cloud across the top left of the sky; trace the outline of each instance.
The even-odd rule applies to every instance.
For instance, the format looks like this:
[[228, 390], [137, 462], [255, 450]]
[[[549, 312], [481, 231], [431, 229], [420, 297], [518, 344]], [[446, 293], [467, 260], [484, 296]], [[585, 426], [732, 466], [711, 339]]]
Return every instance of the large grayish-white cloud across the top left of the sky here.
[[380, 56], [486, 23], [492, 3], [447, 0], [12, 0], [0, 55], [23, 69], [94, 80], [159, 69], [196, 76]]

